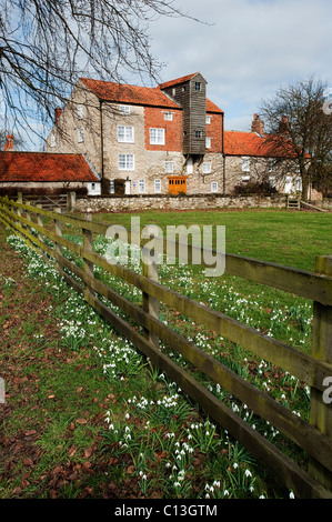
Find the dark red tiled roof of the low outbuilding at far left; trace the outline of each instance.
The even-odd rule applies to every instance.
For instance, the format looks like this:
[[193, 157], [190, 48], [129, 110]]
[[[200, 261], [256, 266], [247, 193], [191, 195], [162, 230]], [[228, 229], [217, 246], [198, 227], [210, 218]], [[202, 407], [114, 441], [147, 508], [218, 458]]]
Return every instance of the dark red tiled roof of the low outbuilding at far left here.
[[0, 182], [99, 181], [82, 154], [0, 152]]

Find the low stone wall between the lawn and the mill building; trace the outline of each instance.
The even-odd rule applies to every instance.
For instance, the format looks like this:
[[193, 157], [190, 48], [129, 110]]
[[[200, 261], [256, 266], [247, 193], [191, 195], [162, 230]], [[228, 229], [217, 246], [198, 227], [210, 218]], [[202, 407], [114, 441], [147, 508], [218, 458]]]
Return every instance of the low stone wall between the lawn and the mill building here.
[[108, 198], [79, 198], [78, 212], [143, 212], [285, 208], [284, 195], [110, 195]]

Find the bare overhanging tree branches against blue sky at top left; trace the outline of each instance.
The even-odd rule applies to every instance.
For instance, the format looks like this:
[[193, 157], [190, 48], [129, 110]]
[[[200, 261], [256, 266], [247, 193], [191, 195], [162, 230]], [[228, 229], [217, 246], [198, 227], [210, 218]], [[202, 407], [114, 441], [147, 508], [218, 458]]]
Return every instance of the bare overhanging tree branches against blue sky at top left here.
[[191, 18], [173, 0], [0, 0], [0, 8], [1, 110], [11, 128], [29, 124], [36, 109], [46, 123], [80, 76], [157, 80], [162, 64], [151, 52], [149, 23]]

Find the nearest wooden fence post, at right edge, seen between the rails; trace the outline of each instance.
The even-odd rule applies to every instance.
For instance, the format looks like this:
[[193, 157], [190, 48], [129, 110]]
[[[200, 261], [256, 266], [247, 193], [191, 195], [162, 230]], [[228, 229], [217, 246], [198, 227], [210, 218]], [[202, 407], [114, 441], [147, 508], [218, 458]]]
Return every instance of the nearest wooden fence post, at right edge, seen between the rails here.
[[[332, 255], [318, 257], [315, 271], [332, 277]], [[313, 303], [312, 355], [332, 364], [332, 307], [315, 301]], [[331, 393], [330, 396], [328, 395], [331, 384], [332, 372], [330, 382], [326, 382], [325, 394], [311, 388], [310, 423], [332, 439], [332, 395]], [[309, 472], [324, 488], [332, 491], [332, 473], [329, 470], [311, 459]]]

